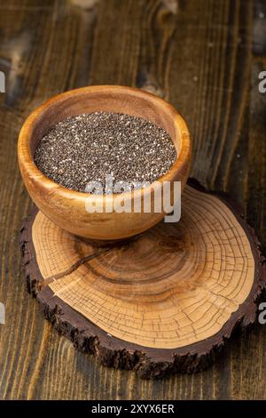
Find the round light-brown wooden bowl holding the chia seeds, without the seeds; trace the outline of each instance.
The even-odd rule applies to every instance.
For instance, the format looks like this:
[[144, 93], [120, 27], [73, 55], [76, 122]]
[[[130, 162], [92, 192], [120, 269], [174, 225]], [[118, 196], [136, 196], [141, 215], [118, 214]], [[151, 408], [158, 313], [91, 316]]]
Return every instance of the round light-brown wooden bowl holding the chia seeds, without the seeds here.
[[[29, 195], [35, 205], [60, 228], [80, 236], [98, 240], [114, 240], [132, 237], [159, 222], [165, 213], [88, 213], [86, 203], [93, 198], [96, 206], [108, 204], [113, 195], [96, 197], [63, 186], [48, 179], [35, 165], [34, 153], [40, 139], [53, 125], [66, 117], [95, 111], [126, 113], [135, 117], [144, 117], [163, 127], [176, 146], [177, 159], [169, 172], [160, 177], [170, 181], [173, 202], [173, 183], [187, 181], [191, 141], [183, 117], [166, 101], [151, 93], [118, 85], [93, 85], [64, 92], [46, 101], [35, 109], [21, 128], [18, 144], [20, 172]], [[156, 184], [139, 189], [138, 197], [144, 201], [145, 194], [151, 193], [152, 201]], [[125, 205], [133, 199], [133, 193], [122, 193]], [[106, 206], [104, 206], [106, 207]]]

